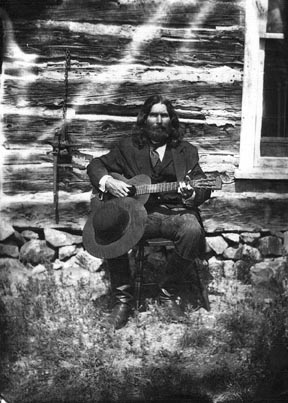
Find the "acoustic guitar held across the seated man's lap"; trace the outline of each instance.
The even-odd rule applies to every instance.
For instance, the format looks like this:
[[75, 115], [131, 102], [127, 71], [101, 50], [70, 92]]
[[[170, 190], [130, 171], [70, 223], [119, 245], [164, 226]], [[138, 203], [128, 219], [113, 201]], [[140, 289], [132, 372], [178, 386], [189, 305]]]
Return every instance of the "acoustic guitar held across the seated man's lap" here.
[[[148, 201], [151, 193], [177, 192], [179, 188], [179, 182], [162, 182], [152, 184], [150, 177], [144, 174], [136, 175], [131, 179], [127, 179], [123, 175], [115, 172], [109, 175], [130, 185], [131, 189], [127, 197], [133, 197], [143, 205]], [[185, 180], [185, 183], [189, 184], [195, 189], [222, 189], [222, 180], [218, 172], [205, 173], [205, 175], [206, 178], [188, 181]], [[98, 199], [101, 202], [111, 200], [112, 198], [115, 197], [110, 193], [103, 193], [101, 191], [98, 195], [96, 195], [96, 197], [94, 197], [94, 199]], [[95, 202], [96, 200], [94, 199], [93, 201]]]

